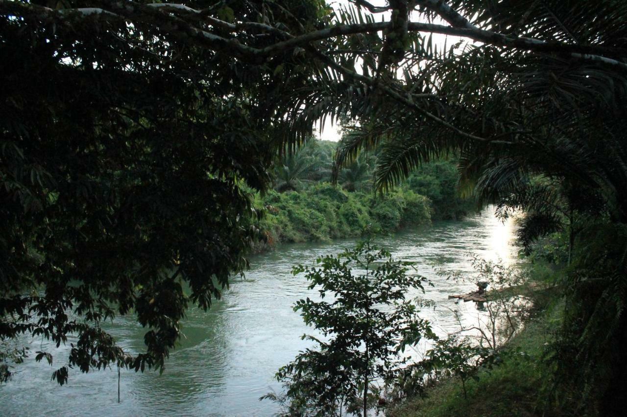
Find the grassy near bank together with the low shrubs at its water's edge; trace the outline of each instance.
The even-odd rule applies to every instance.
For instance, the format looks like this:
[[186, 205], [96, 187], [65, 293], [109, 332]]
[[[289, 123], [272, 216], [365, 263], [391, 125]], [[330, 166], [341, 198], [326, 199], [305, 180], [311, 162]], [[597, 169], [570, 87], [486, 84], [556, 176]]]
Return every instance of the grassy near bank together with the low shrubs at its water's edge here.
[[[523, 315], [524, 326], [507, 344], [493, 351], [461, 334], [441, 339], [422, 364], [408, 368], [400, 386], [408, 398], [391, 406], [386, 415], [570, 415], [547, 391], [553, 370], [542, 360], [562, 323], [564, 297], [558, 287], [550, 285], [562, 271], [541, 260], [529, 266], [525, 275], [534, 285], [513, 290], [532, 300], [527, 309], [530, 314]], [[425, 375], [421, 366], [430, 374]], [[412, 391], [413, 387], [419, 389]]]

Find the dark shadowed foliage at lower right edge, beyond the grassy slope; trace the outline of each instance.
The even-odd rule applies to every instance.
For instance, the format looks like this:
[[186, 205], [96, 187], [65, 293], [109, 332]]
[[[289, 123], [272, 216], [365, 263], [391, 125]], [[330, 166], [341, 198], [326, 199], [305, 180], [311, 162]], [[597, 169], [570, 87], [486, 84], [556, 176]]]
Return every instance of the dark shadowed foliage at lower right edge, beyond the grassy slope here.
[[[619, 415], [624, 388], [627, 229], [591, 224], [558, 281], [566, 304], [562, 328], [548, 346], [552, 394], [573, 414]], [[573, 398], [571, 393], [579, 393]]]

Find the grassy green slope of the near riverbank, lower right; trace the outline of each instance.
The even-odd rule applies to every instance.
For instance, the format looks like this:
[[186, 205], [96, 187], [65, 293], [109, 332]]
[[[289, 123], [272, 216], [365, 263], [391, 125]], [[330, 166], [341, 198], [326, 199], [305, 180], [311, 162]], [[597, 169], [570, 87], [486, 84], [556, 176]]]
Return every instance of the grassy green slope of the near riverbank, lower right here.
[[[545, 265], [531, 270], [532, 285], [525, 296], [533, 307], [524, 329], [502, 349], [502, 363], [480, 369], [477, 379], [446, 378], [429, 386], [420, 396], [405, 399], [387, 410], [390, 417], [502, 417], [562, 415], [547, 401], [550, 389], [547, 346], [562, 321], [563, 299], [554, 274]], [[559, 273], [559, 272], [557, 272]]]

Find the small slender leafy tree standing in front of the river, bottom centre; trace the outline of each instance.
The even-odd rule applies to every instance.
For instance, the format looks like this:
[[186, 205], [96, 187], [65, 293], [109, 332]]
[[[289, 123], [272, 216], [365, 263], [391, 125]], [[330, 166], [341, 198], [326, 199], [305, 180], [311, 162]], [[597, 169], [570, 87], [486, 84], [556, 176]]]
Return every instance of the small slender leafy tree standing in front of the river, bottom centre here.
[[426, 279], [408, 275], [411, 262], [394, 260], [370, 241], [315, 262], [315, 267], [298, 265], [293, 273], [305, 272], [309, 289], [333, 299], [301, 299], [294, 310], [324, 340], [303, 336], [316, 342], [317, 349], [302, 351], [278, 371], [277, 380], [287, 390], [283, 396], [261, 399], [282, 403], [288, 415], [366, 416], [374, 406], [372, 383], [393, 381], [406, 361], [404, 348], [422, 337], [435, 338], [416, 306], [405, 299], [408, 289], [423, 289]]

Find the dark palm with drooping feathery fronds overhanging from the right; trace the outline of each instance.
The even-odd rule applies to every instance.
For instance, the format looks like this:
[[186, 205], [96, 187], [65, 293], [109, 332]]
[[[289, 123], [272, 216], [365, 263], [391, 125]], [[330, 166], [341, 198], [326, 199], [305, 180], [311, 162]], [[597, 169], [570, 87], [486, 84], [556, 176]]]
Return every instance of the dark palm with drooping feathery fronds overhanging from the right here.
[[[502, 217], [512, 208], [527, 212], [521, 229], [525, 244], [567, 229], [570, 252], [578, 246], [579, 256], [577, 273], [564, 285], [571, 312], [562, 340], [577, 341], [571, 358], [579, 366], [563, 361], [561, 368], [567, 373], [570, 367], [571, 376], [572, 369], [582, 369], [576, 378], [586, 381], [585, 392], [603, 394], [604, 412], [613, 413], [617, 402], [612, 399], [625, 394], [619, 387], [627, 374], [620, 349], [609, 348], [627, 348], [622, 313], [627, 306], [627, 72], [622, 66], [627, 3], [609, 0], [590, 8], [582, 0], [505, 0], [487, 7], [485, 1], [452, 0], [449, 5], [439, 17], [454, 27], [490, 29], [512, 42], [561, 42], [572, 46], [571, 53], [489, 43], [438, 49], [427, 37], [409, 34], [411, 46], [399, 69], [379, 78], [383, 39], [365, 34], [359, 48], [351, 39], [337, 42], [337, 48], [366, 52], [327, 60], [332, 70], [296, 90], [294, 102], [304, 120], [347, 115], [355, 122], [340, 143], [336, 179], [340, 168], [378, 150], [374, 187], [385, 191], [421, 163], [455, 152], [461, 190], [472, 190], [479, 203], [496, 203]], [[426, 18], [438, 14], [426, 6], [422, 11]], [[358, 17], [347, 13], [344, 18]], [[593, 51], [605, 58], [586, 59]], [[357, 56], [362, 73], [356, 75], [346, 68], [354, 67]], [[395, 74], [403, 76], [395, 79]], [[375, 81], [369, 75], [376, 75]], [[586, 239], [577, 242], [577, 236]]]

